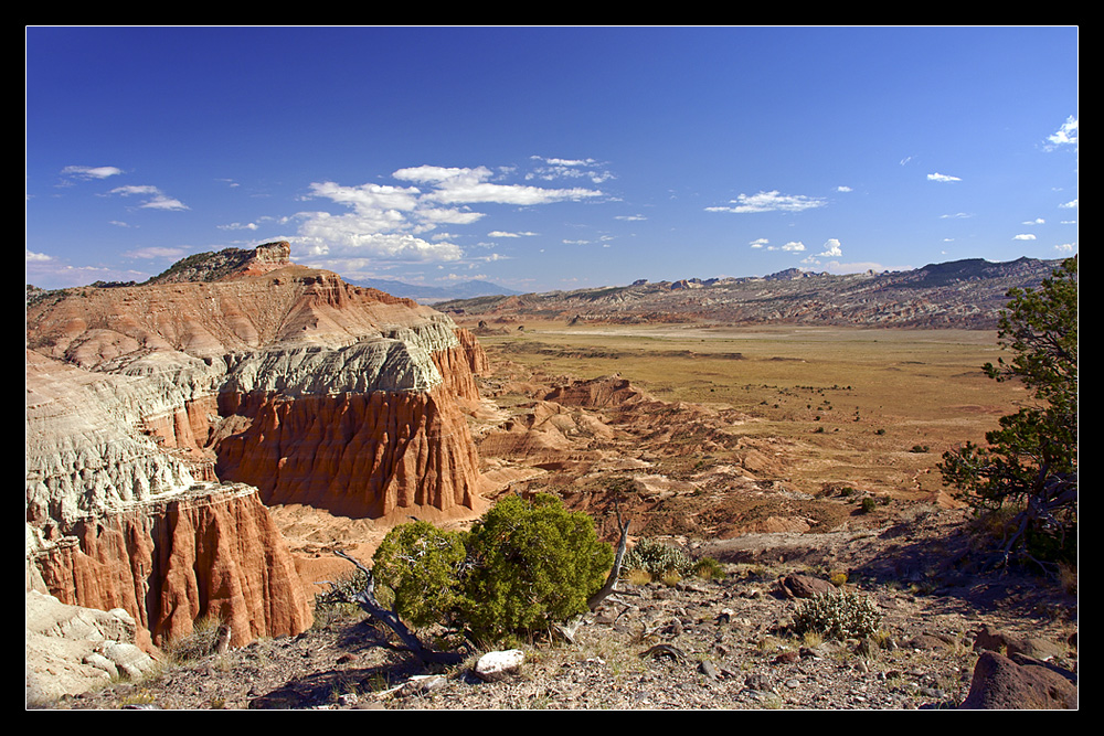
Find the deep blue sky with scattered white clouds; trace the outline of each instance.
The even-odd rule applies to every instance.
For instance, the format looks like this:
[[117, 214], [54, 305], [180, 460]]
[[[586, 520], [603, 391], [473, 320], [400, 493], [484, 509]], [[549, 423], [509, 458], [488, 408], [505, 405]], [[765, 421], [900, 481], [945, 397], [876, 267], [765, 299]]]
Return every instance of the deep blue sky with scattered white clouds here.
[[29, 28], [26, 280], [523, 291], [1078, 252], [1064, 28]]

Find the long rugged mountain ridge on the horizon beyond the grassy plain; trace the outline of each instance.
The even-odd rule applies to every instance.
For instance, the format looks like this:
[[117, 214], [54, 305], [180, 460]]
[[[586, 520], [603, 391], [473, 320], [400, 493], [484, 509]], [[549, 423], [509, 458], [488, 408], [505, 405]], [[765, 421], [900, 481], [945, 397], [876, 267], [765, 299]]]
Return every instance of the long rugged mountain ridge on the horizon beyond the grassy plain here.
[[1036, 287], [1060, 260], [969, 258], [904, 271], [638, 280], [575, 291], [437, 302], [454, 314], [573, 322], [718, 322], [992, 329], [1012, 287]]

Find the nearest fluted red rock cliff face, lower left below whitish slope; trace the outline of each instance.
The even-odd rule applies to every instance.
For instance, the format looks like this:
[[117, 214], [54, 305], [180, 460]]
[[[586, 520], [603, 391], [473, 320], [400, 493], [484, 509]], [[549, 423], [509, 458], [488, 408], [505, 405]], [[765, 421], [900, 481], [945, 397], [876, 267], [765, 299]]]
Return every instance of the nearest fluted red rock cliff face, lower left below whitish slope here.
[[62, 602], [123, 608], [161, 646], [205, 616], [231, 643], [299, 633], [310, 601], [255, 489], [208, 484], [171, 500], [82, 520], [34, 562]]

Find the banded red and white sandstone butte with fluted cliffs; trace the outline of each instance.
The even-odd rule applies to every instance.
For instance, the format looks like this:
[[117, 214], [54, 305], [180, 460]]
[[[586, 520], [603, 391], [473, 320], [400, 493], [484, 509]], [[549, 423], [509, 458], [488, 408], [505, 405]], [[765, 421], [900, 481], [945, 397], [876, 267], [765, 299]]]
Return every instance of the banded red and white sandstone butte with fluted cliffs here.
[[266, 504], [385, 521], [477, 506], [458, 404], [487, 365], [475, 337], [289, 252], [29, 303], [29, 590], [124, 608], [147, 647], [204, 616], [243, 646], [311, 621]]

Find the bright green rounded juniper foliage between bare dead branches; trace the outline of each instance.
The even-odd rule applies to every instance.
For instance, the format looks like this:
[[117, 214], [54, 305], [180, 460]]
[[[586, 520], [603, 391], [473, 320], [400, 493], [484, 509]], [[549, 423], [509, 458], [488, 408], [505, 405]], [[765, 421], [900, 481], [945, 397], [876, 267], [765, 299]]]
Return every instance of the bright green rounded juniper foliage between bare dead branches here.
[[415, 627], [455, 625], [497, 641], [585, 612], [613, 559], [588, 515], [541, 494], [502, 499], [467, 533], [396, 526], [373, 557], [373, 575]]

